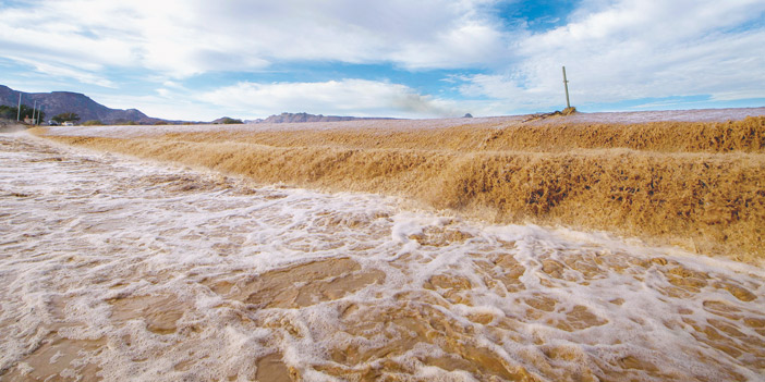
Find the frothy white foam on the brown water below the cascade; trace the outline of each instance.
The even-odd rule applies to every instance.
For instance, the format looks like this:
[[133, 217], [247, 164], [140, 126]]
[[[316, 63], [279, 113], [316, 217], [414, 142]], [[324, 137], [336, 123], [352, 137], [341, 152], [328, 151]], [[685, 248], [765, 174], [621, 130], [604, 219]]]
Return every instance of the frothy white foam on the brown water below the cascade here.
[[[255, 372], [255, 359], [279, 353], [306, 380], [333, 381], [312, 368], [332, 362], [328, 349], [381, 346], [390, 341], [382, 331], [392, 330], [389, 323], [368, 337], [344, 333], [339, 311], [355, 305], [357, 317], [384, 312], [401, 304], [401, 294], [416, 292], [449, 308], [417, 299], [408, 304], [435, 309], [450, 322], [470, 328], [474, 344], [537, 375], [543, 371], [519, 355], [544, 358], [541, 342], [606, 361], [632, 355], [687, 378], [718, 379], [728, 375], [725, 370], [733, 370], [750, 380], [761, 379], [762, 370], [753, 367], [751, 355], [732, 357], [707, 346], [683, 322], [716, 320], [765, 342], [740, 320], [704, 306], [722, 301], [742, 317], [762, 319], [761, 268], [606, 234], [486, 226], [402, 211], [394, 199], [379, 196], [254, 187], [238, 180], [219, 185], [216, 174], [84, 153], [24, 135], [0, 135], [0, 370], [31, 372], [32, 367], [23, 363], [28, 353], [59, 335], [104, 338], [106, 346], [81, 361], [97, 363], [107, 380], [123, 375], [245, 380]], [[183, 190], [190, 184], [196, 188]], [[427, 236], [451, 231], [464, 233], [463, 238], [437, 243]], [[487, 284], [485, 269], [507, 271], [494, 263], [479, 267], [497, 256], [524, 267], [517, 291]], [[649, 262], [657, 257], [705, 272], [709, 281], [691, 298], [672, 297], [667, 293], [673, 286], [667, 275], [671, 263]], [[379, 270], [386, 278], [300, 308], [254, 309], [210, 286], [210, 281], [236, 283], [292, 264], [339, 258], [351, 258], [364, 271]], [[559, 276], [545, 269], [546, 262], [578, 259], [600, 268], [587, 274], [562, 267]], [[470, 282], [471, 288], [456, 292], [472, 305], [446, 303], [440, 294], [448, 291], [423, 287], [444, 274]], [[295, 280], [293, 286], [308, 281]], [[745, 287], [755, 298], [741, 300], [715, 287], [716, 282]], [[122, 321], [116, 317], [111, 299], [146, 296], [173, 296], [179, 301], [183, 315], [177, 331], [154, 333], [145, 317]], [[530, 316], [527, 301], [539, 296], [554, 299], [555, 307]], [[623, 300], [621, 305], [611, 303], [617, 299]], [[586, 309], [602, 323], [572, 331], [556, 328], [574, 309]], [[475, 315], [491, 319], [477, 323], [470, 319]], [[497, 330], [502, 320], [514, 324], [512, 333]], [[286, 330], [283, 322], [299, 334]], [[56, 334], [57, 325], [65, 328]], [[689, 348], [715, 362], [705, 363]], [[417, 378], [478, 380], [466, 371], [422, 362], [438, 352], [434, 344], [420, 343], [396, 360], [414, 368]], [[379, 359], [369, 362], [380, 365]]]

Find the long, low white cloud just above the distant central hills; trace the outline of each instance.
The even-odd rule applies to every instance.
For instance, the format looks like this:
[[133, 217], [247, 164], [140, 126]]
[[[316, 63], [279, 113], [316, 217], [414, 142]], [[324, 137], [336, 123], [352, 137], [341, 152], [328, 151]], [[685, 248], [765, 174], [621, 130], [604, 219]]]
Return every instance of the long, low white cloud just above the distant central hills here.
[[242, 82], [205, 93], [198, 99], [235, 110], [247, 118], [282, 111], [402, 118], [457, 116], [466, 112], [456, 101], [423, 96], [400, 84], [366, 79], [275, 84]]

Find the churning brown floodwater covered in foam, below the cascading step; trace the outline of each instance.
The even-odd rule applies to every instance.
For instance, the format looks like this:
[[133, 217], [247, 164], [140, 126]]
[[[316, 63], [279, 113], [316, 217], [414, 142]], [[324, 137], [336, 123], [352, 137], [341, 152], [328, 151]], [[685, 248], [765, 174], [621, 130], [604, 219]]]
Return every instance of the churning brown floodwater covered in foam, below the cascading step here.
[[765, 271], [0, 134], [2, 381], [763, 381]]

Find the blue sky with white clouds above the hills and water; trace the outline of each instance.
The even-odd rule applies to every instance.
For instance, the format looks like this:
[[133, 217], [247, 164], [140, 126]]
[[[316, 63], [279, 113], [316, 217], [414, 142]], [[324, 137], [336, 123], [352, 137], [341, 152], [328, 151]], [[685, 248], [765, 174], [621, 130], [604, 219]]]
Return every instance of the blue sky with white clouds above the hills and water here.
[[765, 106], [762, 0], [0, 0], [0, 84], [165, 119]]

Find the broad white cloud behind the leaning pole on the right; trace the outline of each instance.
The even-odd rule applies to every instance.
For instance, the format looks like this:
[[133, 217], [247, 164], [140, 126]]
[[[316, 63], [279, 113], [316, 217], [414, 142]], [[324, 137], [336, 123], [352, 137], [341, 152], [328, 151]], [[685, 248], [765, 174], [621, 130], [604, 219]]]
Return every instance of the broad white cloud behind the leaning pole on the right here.
[[568, 24], [529, 34], [503, 72], [463, 78], [464, 95], [508, 109], [564, 106], [561, 65], [573, 103], [708, 95], [765, 97], [765, 30], [757, 0], [620, 0], [574, 12]]

